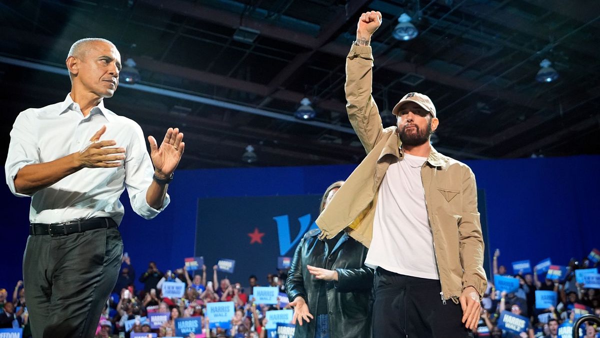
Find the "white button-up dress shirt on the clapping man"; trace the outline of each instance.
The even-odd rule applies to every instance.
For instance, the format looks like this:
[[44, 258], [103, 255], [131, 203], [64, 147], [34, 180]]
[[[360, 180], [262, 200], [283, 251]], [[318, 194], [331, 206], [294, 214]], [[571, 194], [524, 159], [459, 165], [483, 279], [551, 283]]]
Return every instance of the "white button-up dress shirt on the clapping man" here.
[[14, 178], [25, 165], [45, 163], [82, 150], [89, 139], [106, 125], [100, 141], [114, 140], [125, 148], [125, 160], [116, 168], [83, 168], [31, 195], [31, 223], [60, 223], [92, 217], [111, 217], [121, 223], [124, 209], [119, 201], [125, 187], [131, 207], [146, 219], [154, 218], [170, 202], [156, 210], [146, 202], [154, 167], [146, 150], [142, 128], [135, 121], [116, 115], [100, 102], [83, 117], [68, 94], [63, 102], [30, 108], [17, 116], [10, 132], [5, 164], [6, 182], [14, 195]]

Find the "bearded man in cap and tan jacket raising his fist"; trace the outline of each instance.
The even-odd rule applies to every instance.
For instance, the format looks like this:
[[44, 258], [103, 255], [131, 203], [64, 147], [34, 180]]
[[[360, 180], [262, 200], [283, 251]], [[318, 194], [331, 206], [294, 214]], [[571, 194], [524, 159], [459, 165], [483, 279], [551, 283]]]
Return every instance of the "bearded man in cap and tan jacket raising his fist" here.
[[475, 176], [430, 145], [429, 97], [406, 94], [383, 129], [369, 45], [380, 25], [379, 12], [362, 14], [346, 59], [346, 108], [367, 157], [317, 219], [320, 236], [346, 229], [369, 247], [373, 337], [468, 337], [487, 287]]

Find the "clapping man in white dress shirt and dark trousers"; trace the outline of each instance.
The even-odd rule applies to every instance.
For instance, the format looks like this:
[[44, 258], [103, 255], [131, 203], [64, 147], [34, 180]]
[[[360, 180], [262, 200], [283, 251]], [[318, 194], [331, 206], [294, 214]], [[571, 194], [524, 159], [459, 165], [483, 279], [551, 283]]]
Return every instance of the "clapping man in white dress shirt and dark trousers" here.
[[104, 107], [119, 84], [121, 55], [101, 38], [79, 40], [67, 57], [71, 93], [19, 114], [5, 164], [14, 195], [31, 197], [23, 281], [32, 333], [92, 337], [121, 265], [127, 187], [146, 219], [169, 204], [167, 186], [184, 152], [169, 128], [158, 146], [140, 126]]

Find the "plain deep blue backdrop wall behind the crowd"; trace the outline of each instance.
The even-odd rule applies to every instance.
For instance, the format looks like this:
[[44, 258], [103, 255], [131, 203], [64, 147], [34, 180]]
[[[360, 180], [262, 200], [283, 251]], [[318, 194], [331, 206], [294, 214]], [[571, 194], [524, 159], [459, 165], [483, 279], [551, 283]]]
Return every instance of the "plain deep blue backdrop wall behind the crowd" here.
[[[485, 191], [490, 242], [487, 249], [500, 248], [501, 264], [509, 266], [524, 259], [535, 264], [551, 257], [553, 263], [565, 265], [571, 257], [580, 259], [593, 247], [600, 248], [600, 222], [593, 214], [600, 206], [600, 156], [467, 164], [475, 172], [478, 188]], [[199, 198], [322, 194], [330, 183], [346, 178], [354, 168], [355, 165], [335, 165], [179, 170], [169, 188], [171, 205], [154, 220], [146, 221], [134, 214], [124, 195], [121, 233], [125, 251], [137, 275], [145, 271], [149, 260], [155, 260], [163, 271], [181, 267], [184, 257], [194, 256]], [[14, 197], [8, 188], [1, 190], [5, 221], [0, 287], [11, 292], [21, 278], [29, 199]], [[247, 229], [228, 229], [227, 224], [223, 224], [223, 232], [224, 236], [248, 233]], [[256, 246], [255, 250], [260, 249]], [[275, 268], [272, 262], [266, 264]], [[259, 283], [265, 283], [265, 275], [258, 277]], [[240, 281], [246, 283], [245, 278]]]

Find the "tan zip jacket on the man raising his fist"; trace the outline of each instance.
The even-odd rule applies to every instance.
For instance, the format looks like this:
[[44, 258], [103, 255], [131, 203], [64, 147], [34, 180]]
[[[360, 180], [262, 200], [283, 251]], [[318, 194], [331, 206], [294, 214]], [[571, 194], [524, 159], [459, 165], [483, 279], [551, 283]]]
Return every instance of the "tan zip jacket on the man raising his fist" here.
[[[369, 247], [377, 191], [390, 164], [404, 156], [397, 128], [383, 129], [371, 96], [373, 55], [370, 46], [352, 46], [346, 60], [346, 109], [367, 157], [356, 167], [319, 218], [320, 238], [332, 238], [346, 228]], [[466, 164], [431, 147], [421, 169], [434, 253], [442, 283], [441, 298], [458, 304], [463, 289], [473, 286], [483, 295], [484, 242], [477, 210], [475, 176]]]

